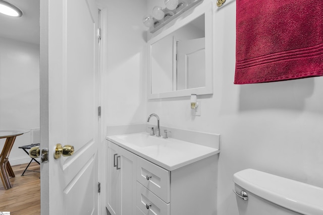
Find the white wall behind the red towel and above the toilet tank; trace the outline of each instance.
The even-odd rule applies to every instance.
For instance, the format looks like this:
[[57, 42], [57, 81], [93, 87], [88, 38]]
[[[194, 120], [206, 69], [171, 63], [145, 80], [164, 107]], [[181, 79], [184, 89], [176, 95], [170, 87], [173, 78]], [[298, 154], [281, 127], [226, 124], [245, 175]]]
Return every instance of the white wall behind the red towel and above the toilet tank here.
[[[204, 0], [208, 4], [213, 0]], [[148, 12], [161, 0], [148, 1]], [[154, 99], [146, 115], [160, 124], [221, 134], [218, 215], [238, 215], [235, 172], [246, 168], [323, 187], [323, 77], [234, 85], [236, 4], [214, 0], [214, 94], [198, 96], [201, 116], [190, 115], [189, 97]]]

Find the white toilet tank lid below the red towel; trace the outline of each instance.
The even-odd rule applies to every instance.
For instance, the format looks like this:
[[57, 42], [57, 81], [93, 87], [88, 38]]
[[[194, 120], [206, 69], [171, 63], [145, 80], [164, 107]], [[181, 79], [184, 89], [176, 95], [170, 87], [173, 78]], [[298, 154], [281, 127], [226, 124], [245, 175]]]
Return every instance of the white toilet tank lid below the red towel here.
[[233, 181], [246, 192], [295, 212], [323, 214], [323, 188], [253, 169], [235, 173]]

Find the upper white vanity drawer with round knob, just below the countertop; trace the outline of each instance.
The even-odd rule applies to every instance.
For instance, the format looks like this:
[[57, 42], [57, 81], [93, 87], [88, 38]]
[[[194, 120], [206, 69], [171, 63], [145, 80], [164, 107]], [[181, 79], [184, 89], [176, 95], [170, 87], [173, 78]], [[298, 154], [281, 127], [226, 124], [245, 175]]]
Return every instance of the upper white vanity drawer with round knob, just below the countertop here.
[[137, 181], [159, 198], [163, 199], [166, 203], [170, 202], [169, 171], [142, 158], [138, 158]]

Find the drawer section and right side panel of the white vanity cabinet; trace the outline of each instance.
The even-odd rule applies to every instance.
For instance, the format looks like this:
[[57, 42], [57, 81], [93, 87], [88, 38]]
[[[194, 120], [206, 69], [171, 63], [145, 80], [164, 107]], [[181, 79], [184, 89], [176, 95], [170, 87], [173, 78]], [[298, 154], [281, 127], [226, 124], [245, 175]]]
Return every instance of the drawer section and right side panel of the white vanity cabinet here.
[[216, 214], [217, 161], [213, 155], [165, 174], [138, 157], [136, 215]]

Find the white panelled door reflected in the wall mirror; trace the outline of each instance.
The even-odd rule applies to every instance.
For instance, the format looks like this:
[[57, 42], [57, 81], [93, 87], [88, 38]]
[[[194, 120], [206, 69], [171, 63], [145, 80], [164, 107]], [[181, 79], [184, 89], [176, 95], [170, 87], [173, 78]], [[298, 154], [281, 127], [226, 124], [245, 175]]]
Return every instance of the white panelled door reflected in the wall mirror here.
[[177, 90], [205, 86], [205, 38], [177, 41]]

